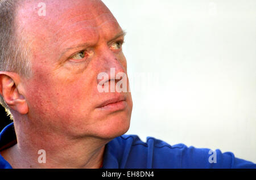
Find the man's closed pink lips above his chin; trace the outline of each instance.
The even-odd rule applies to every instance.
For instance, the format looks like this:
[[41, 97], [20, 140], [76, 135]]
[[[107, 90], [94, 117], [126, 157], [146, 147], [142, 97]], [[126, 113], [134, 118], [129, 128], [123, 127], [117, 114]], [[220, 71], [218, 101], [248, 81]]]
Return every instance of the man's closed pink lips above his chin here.
[[102, 102], [97, 109], [117, 111], [123, 110], [127, 106], [126, 98], [124, 96], [109, 98], [108, 100]]

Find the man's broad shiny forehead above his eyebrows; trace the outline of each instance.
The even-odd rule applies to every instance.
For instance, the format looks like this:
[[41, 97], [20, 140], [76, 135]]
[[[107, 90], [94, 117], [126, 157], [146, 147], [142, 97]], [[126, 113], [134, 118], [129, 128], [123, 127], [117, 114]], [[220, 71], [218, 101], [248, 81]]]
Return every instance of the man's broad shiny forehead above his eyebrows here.
[[[121, 31], [109, 9], [97, 0], [24, 1], [18, 8], [17, 23], [27, 35], [41, 41], [60, 42], [82, 37], [85, 41]], [[46, 16], [40, 12], [44, 11]], [[86, 32], [86, 33], [85, 33]]]

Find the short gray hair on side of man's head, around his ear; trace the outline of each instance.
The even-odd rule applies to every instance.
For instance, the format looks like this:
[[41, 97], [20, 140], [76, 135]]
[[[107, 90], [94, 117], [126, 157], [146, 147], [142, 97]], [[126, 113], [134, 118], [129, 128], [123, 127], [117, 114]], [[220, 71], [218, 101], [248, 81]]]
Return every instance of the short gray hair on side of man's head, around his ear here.
[[[0, 0], [0, 71], [16, 72], [22, 77], [31, 75], [28, 48], [23, 38], [18, 38], [18, 25], [15, 23], [16, 9], [19, 0]], [[19, 34], [20, 36], [20, 34]], [[22, 36], [20, 36], [22, 37]], [[0, 104], [7, 115], [10, 108], [0, 95]]]

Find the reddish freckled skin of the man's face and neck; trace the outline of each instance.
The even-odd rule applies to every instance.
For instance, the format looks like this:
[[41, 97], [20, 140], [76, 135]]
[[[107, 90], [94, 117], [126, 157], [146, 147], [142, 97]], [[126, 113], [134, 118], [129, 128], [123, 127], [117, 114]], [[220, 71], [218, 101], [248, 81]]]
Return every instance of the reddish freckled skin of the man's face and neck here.
[[[41, 0], [24, 2], [16, 21], [32, 47], [32, 76], [22, 79], [28, 112], [14, 112], [19, 150], [13, 149], [6, 157], [19, 155], [16, 161], [9, 160], [24, 168], [25, 163], [28, 166], [37, 160], [39, 149], [45, 149], [47, 168], [98, 167], [104, 145], [130, 126], [130, 93], [121, 93], [127, 102], [123, 110], [97, 109], [102, 101], [118, 95], [98, 92], [97, 75], [110, 74], [110, 68], [115, 68], [115, 74], [127, 73], [122, 50], [110, 49], [110, 40], [122, 28], [101, 1], [43, 1], [46, 16], [37, 14]], [[85, 43], [92, 55], [85, 61], [69, 61], [84, 49], [65, 49]], [[35, 166], [39, 164], [34, 162]]]

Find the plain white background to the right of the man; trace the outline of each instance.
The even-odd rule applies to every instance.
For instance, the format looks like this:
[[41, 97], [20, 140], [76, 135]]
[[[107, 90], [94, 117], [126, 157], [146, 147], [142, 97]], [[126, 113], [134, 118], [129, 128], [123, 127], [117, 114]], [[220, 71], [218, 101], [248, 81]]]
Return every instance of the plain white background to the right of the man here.
[[256, 1], [103, 2], [127, 32], [127, 134], [256, 163]]

